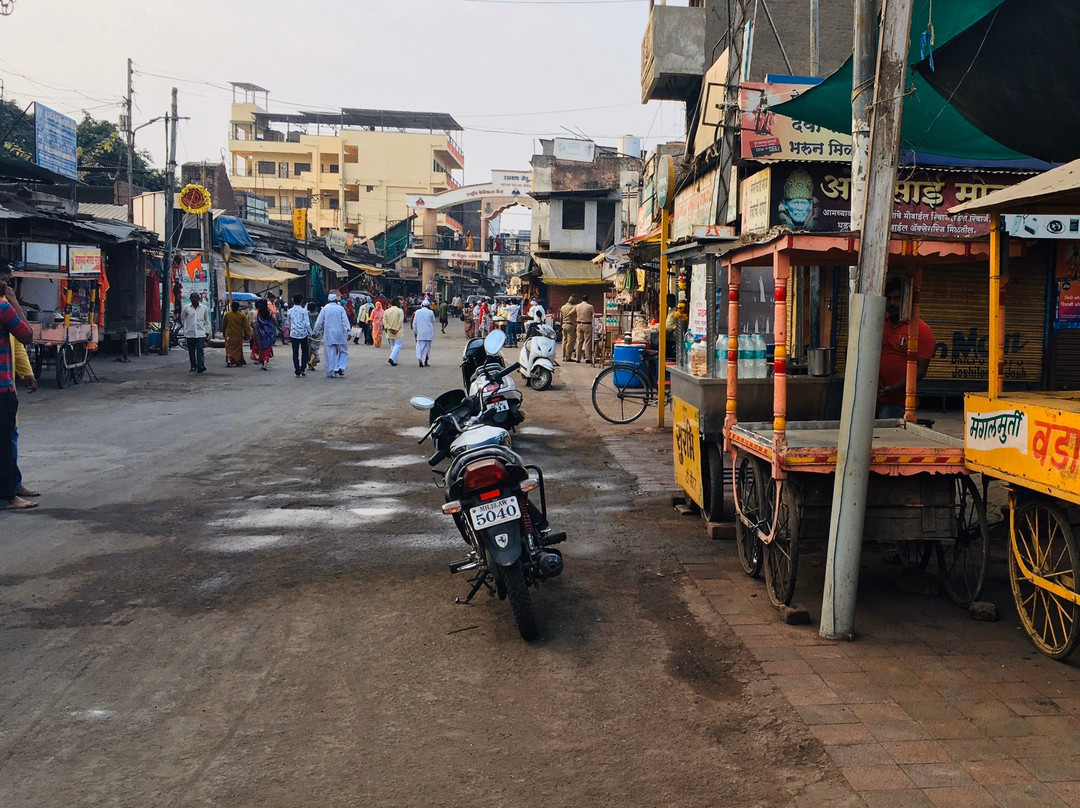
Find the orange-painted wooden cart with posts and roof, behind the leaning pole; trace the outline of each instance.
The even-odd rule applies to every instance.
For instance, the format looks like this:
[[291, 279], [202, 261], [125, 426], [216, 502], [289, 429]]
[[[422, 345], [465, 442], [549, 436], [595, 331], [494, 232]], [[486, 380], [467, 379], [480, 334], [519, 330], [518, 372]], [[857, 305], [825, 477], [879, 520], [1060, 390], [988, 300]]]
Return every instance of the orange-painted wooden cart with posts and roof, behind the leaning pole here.
[[[985, 243], [893, 239], [890, 267], [912, 278], [912, 317], [918, 322], [923, 264], [972, 261]], [[747, 575], [764, 568], [769, 597], [789, 604], [800, 547], [827, 539], [838, 421], [787, 421], [788, 282], [793, 266], [858, 264], [859, 240], [847, 235], [785, 234], [735, 248], [728, 268], [728, 382], [724, 448], [731, 457], [735, 540]], [[775, 282], [773, 418], [740, 423], [739, 288], [745, 266], [770, 262]], [[907, 359], [905, 417], [875, 422], [864, 535], [895, 543], [905, 564], [926, 566], [936, 552], [942, 581], [959, 604], [974, 601], [986, 575], [989, 533], [982, 491], [964, 467], [963, 442], [916, 423], [917, 326]]]

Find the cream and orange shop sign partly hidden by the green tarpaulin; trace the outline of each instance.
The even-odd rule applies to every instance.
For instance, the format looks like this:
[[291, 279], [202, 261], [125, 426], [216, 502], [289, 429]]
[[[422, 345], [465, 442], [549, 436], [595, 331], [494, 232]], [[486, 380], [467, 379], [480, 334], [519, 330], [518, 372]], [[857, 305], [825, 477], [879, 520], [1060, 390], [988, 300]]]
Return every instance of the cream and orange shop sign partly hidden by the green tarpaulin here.
[[739, 87], [744, 160], [851, 160], [851, 135], [777, 115], [772, 107], [805, 93], [821, 79], [769, 76]]

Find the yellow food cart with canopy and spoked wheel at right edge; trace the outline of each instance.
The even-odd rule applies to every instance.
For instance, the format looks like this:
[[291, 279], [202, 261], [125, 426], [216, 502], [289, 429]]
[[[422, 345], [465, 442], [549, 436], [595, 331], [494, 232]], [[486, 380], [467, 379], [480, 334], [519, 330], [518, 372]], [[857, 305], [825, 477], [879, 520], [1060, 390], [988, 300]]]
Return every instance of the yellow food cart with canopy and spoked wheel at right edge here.
[[[989, 385], [964, 399], [968, 469], [1009, 488], [1009, 581], [1021, 622], [1043, 654], [1064, 659], [1080, 642], [1080, 391], [1004, 393], [1001, 213], [1053, 215], [1080, 207], [1080, 164], [988, 194], [963, 210], [993, 214]], [[954, 208], [959, 212], [960, 208]]]

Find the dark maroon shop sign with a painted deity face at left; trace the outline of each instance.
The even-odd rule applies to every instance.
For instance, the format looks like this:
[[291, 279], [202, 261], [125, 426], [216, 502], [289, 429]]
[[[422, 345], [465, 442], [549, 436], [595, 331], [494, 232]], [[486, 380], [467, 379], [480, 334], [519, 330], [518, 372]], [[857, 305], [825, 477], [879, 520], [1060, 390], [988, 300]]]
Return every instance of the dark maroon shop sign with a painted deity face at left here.
[[[788, 164], [772, 173], [769, 226], [796, 231], [843, 232], [851, 229], [849, 166]], [[755, 175], [756, 176], [756, 175]], [[974, 172], [905, 171], [893, 196], [892, 232], [915, 239], [962, 241], [990, 232], [983, 213], [951, 216], [948, 208], [1008, 188], [1023, 177], [996, 174], [987, 181]]]

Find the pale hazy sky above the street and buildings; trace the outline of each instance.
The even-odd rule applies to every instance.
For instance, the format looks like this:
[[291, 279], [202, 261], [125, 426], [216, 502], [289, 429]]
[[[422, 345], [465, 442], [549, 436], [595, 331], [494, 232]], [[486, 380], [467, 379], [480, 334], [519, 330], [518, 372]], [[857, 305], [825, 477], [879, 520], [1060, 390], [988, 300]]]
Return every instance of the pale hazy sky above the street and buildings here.
[[[178, 159], [219, 160], [230, 81], [270, 108], [449, 112], [464, 181], [527, 169], [535, 138], [566, 129], [645, 148], [683, 137], [681, 105], [640, 104], [648, 0], [15, 0], [0, 17], [4, 97], [116, 121], [125, 64], [136, 125], [179, 89]], [[164, 162], [164, 129], [136, 146]], [[228, 164], [228, 160], [226, 161]]]

